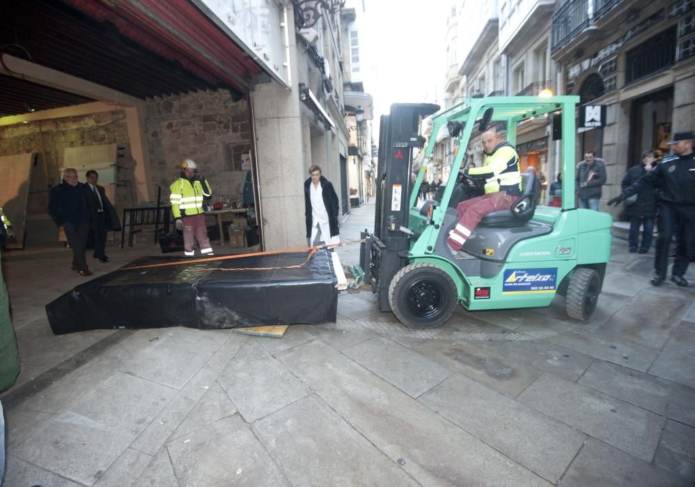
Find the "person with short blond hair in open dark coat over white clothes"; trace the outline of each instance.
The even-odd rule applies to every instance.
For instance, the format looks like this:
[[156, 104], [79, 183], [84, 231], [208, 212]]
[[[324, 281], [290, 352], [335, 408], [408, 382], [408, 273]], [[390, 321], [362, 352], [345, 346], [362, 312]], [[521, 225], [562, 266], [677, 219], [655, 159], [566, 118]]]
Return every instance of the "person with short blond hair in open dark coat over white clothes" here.
[[338, 195], [333, 184], [321, 175], [321, 166], [313, 164], [309, 168], [309, 179], [304, 181], [304, 218], [306, 219], [306, 238], [309, 245], [321, 230], [321, 239], [326, 245], [339, 244], [338, 237]]

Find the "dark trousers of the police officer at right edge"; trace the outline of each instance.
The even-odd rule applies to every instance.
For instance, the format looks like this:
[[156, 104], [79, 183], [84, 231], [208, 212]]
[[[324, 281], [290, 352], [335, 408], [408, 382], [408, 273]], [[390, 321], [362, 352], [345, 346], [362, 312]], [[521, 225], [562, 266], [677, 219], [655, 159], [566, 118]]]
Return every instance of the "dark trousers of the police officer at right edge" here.
[[683, 276], [690, 263], [690, 239], [695, 225], [695, 205], [679, 205], [678, 203], [659, 201], [659, 238], [657, 238], [654, 270], [659, 276], [666, 276], [669, 270], [669, 244], [673, 237], [673, 222], [676, 218], [678, 225], [678, 244], [676, 244], [676, 259], [673, 261], [672, 276]]

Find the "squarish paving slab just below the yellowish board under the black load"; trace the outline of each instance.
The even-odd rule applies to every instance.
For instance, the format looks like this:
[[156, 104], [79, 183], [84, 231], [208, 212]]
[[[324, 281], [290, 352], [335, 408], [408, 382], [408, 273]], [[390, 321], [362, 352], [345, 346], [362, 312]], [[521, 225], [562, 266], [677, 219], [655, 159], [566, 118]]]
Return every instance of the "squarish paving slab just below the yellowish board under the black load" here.
[[221, 372], [219, 384], [249, 423], [309, 395], [304, 384], [252, 340]]

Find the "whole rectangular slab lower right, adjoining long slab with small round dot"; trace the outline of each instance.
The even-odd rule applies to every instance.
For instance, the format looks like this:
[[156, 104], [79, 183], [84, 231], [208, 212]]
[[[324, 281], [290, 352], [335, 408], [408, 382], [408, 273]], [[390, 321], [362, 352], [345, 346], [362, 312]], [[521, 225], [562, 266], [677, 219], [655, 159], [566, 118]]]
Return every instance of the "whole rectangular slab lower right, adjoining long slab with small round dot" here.
[[419, 401], [553, 484], [586, 440], [584, 433], [458, 374]]

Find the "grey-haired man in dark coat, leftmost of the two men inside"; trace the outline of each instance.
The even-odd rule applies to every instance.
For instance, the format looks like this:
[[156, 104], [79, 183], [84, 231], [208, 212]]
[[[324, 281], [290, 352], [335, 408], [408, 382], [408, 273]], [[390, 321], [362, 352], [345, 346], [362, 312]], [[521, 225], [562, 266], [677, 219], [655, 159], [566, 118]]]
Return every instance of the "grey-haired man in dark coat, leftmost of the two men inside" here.
[[51, 188], [48, 195], [48, 212], [58, 226], [65, 229], [72, 249], [72, 270], [80, 276], [91, 276], [85, 257], [85, 248], [92, 212], [84, 184], [77, 181], [77, 171], [63, 170], [63, 181]]

